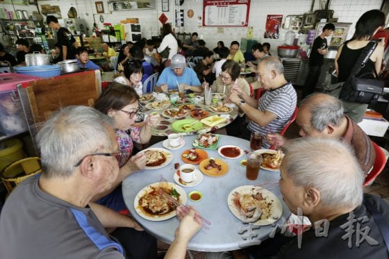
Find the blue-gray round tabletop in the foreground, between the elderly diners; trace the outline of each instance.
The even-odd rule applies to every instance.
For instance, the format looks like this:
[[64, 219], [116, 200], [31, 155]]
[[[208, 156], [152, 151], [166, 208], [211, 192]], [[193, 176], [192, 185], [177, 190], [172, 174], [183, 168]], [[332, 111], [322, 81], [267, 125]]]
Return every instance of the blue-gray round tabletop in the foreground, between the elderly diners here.
[[[144, 170], [136, 172], [126, 177], [122, 183], [122, 191], [124, 201], [127, 208], [129, 208], [133, 218], [158, 240], [167, 242], [169, 244], [174, 240], [174, 231], [179, 226], [179, 219], [173, 217], [163, 221], [151, 221], [141, 217], [134, 206], [135, 197], [147, 185], [158, 183], [165, 178], [169, 183], [174, 182], [174, 164], [179, 163], [183, 165], [181, 160], [181, 153], [192, 148], [192, 143], [197, 135], [185, 135], [183, 140], [185, 144], [181, 149], [169, 150], [172, 152], [172, 161], [163, 168]], [[220, 135], [218, 147], [226, 144], [233, 144], [240, 147], [243, 151], [249, 149], [249, 141], [242, 140], [238, 137], [229, 135]], [[153, 148], [162, 148], [162, 142], [158, 142], [151, 146]], [[269, 188], [281, 202], [282, 214], [279, 219], [267, 226], [253, 226], [245, 224], [240, 219], [235, 217], [228, 205], [228, 197], [232, 190], [242, 185], [258, 185], [261, 183], [271, 183], [278, 181], [280, 178], [279, 172], [267, 171], [260, 169], [257, 180], [250, 181], [246, 178], [246, 169], [240, 165], [240, 161], [245, 159], [245, 154], [240, 158], [226, 159], [219, 155], [217, 150], [204, 149], [208, 153], [208, 158], [223, 159], [227, 163], [229, 170], [226, 174], [219, 177], [211, 177], [204, 174], [201, 183], [194, 187], [183, 187], [186, 195], [194, 190], [203, 194], [199, 201], [191, 201], [188, 199], [186, 205], [193, 206], [204, 217], [210, 225], [203, 224], [201, 231], [190, 240], [188, 249], [194, 251], [232, 251], [241, 249], [242, 247], [249, 247], [253, 244], [259, 244], [261, 240], [265, 240], [274, 233], [276, 226], [285, 224], [285, 219], [290, 215], [288, 207], [283, 203], [279, 185]], [[199, 169], [199, 165], [195, 165]], [[139, 197], [138, 197], [139, 198]]]

